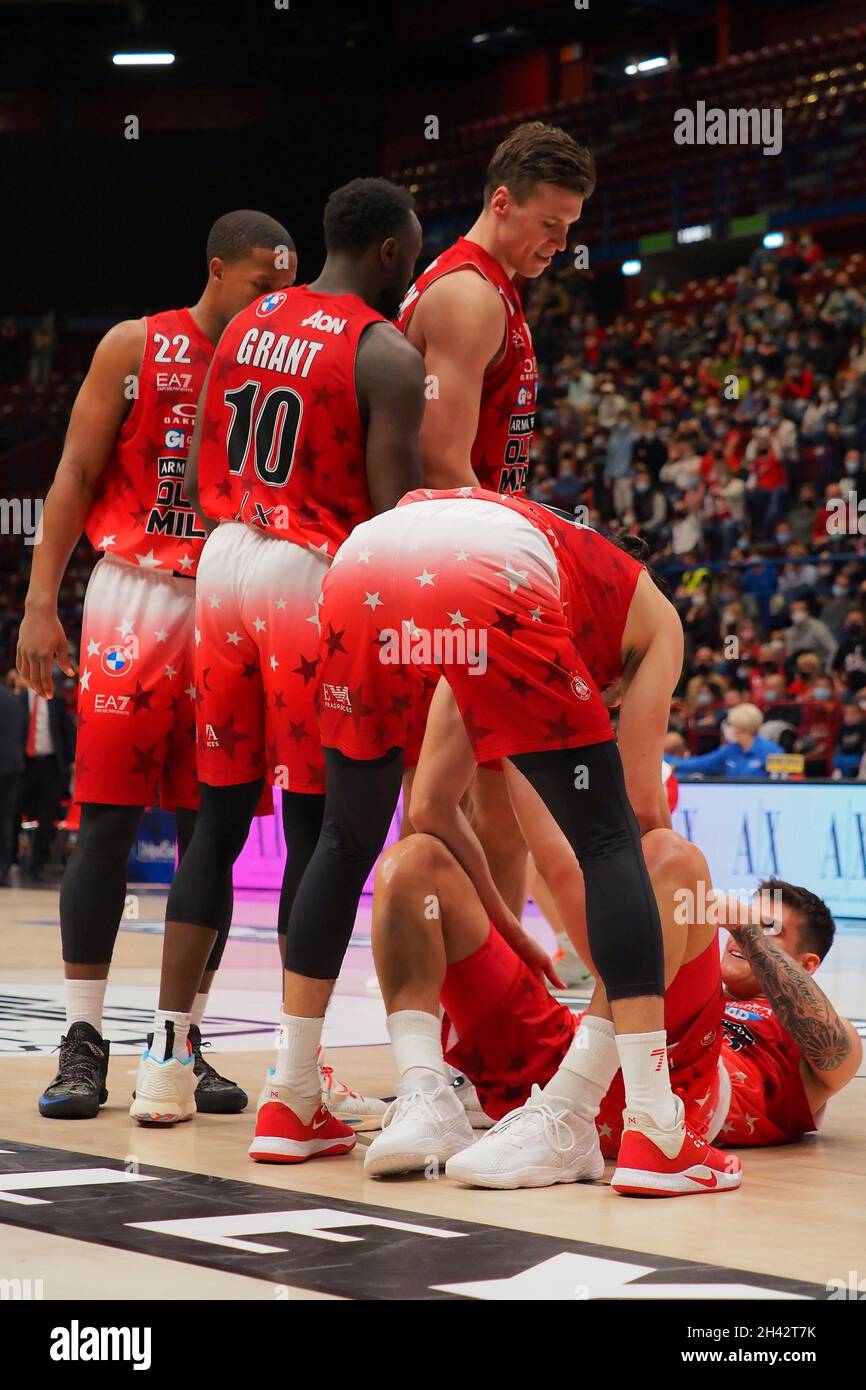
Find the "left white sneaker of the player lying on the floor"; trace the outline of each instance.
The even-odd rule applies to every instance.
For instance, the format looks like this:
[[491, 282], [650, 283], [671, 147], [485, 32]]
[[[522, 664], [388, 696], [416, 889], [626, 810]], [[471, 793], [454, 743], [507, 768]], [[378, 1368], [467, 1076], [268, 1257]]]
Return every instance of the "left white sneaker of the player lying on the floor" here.
[[364, 1172], [374, 1177], [423, 1172], [431, 1163], [445, 1163], [473, 1138], [466, 1111], [450, 1086], [410, 1091], [398, 1095], [385, 1111], [382, 1133], [364, 1156]]

